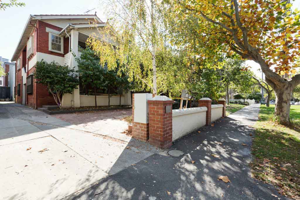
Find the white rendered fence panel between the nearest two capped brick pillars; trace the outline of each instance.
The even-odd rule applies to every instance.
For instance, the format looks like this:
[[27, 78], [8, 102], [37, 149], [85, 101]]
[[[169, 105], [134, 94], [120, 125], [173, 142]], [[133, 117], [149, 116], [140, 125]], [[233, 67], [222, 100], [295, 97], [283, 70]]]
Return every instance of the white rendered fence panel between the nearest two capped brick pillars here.
[[[172, 141], [205, 126], [206, 107], [176, 109], [172, 111]], [[135, 118], [135, 116], [134, 116]]]

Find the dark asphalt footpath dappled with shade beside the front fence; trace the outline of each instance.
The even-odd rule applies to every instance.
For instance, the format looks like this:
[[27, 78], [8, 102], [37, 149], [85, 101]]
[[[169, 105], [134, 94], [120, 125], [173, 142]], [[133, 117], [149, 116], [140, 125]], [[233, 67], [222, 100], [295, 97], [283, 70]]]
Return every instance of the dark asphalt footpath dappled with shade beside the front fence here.
[[258, 112], [258, 104], [247, 106], [175, 141], [171, 149], [183, 151], [183, 157], [151, 155], [65, 199], [286, 199], [250, 177], [250, 125]]

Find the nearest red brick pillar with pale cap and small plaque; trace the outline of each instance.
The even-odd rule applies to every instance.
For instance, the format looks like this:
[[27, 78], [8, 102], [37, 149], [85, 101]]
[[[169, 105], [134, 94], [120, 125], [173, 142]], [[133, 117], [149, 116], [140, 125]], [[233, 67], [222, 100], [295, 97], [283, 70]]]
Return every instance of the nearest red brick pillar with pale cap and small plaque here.
[[172, 104], [166, 96], [156, 96], [148, 100], [149, 106], [149, 142], [158, 148], [172, 145]]

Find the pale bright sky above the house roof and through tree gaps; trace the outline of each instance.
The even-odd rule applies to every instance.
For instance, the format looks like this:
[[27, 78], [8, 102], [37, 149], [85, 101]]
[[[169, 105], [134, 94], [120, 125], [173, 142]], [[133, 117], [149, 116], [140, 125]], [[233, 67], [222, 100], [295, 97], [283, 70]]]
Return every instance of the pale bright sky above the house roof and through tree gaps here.
[[[8, 0], [3, 0], [7, 2]], [[0, 56], [10, 59], [22, 34], [25, 23], [30, 14], [84, 14], [89, 9], [96, 8], [98, 17], [106, 21], [104, 5], [100, 0], [19, 0], [26, 3], [25, 7], [12, 7], [0, 11]], [[292, 1], [293, 9], [300, 8], [300, 0]], [[90, 14], [95, 13], [92, 10]], [[254, 73], [259, 65], [247, 61]]]

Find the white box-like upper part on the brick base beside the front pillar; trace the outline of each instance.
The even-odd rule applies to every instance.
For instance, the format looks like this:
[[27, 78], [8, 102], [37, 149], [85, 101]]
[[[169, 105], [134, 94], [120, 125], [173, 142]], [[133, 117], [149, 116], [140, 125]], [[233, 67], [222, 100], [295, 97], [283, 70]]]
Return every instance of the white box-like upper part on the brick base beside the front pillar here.
[[134, 121], [139, 123], [149, 123], [148, 100], [152, 99], [150, 93], [134, 94]]

